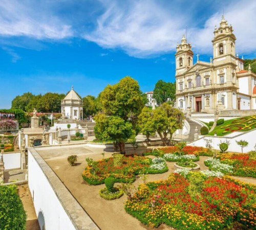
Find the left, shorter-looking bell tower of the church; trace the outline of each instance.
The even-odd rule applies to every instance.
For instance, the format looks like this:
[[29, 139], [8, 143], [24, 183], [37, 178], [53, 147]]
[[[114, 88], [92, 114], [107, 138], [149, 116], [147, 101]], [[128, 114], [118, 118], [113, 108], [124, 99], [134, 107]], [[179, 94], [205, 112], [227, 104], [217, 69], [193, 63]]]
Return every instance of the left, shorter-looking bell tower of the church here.
[[185, 35], [183, 34], [181, 43], [176, 47], [176, 76], [183, 74], [191, 66], [193, 66], [193, 51], [191, 50], [191, 44], [187, 43]]

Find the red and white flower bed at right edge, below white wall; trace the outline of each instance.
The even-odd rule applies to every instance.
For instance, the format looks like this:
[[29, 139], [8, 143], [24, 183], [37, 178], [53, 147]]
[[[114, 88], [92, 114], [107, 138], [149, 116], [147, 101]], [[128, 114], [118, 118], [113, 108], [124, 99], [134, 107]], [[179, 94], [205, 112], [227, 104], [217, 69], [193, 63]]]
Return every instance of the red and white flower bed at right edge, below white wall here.
[[205, 160], [205, 166], [210, 170], [219, 171], [233, 176], [256, 178], [256, 152], [224, 153], [219, 158]]

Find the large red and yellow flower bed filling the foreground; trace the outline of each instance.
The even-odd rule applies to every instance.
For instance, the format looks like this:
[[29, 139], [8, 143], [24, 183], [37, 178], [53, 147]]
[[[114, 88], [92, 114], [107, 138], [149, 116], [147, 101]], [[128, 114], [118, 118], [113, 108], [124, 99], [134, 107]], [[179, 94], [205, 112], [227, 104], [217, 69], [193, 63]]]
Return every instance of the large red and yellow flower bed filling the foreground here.
[[223, 229], [238, 221], [245, 228], [255, 228], [255, 188], [210, 176], [203, 180], [200, 196], [193, 197], [189, 180], [171, 175], [168, 180], [139, 186], [126, 201], [125, 211], [150, 227], [165, 223], [176, 229]]

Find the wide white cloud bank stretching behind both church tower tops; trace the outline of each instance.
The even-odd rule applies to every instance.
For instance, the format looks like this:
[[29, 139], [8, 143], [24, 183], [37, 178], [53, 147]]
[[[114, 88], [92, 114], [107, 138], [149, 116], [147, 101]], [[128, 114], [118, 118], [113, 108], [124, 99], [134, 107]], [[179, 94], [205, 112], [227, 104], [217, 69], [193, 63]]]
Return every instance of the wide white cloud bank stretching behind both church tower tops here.
[[[181, 7], [165, 9], [157, 1], [128, 1], [125, 6], [117, 2], [104, 3], [105, 12], [98, 17], [96, 29], [83, 36], [103, 48], [119, 48], [135, 57], [161, 55], [176, 50], [176, 43], [187, 25], [193, 50], [201, 54], [212, 53], [211, 40], [215, 25], [219, 26], [221, 20], [220, 12], [209, 14], [201, 27], [197, 25], [199, 19], [193, 18], [192, 11], [197, 10], [195, 6], [189, 13]], [[230, 2], [225, 11], [225, 18], [237, 36], [237, 51], [244, 54], [256, 52], [256, 2]]]

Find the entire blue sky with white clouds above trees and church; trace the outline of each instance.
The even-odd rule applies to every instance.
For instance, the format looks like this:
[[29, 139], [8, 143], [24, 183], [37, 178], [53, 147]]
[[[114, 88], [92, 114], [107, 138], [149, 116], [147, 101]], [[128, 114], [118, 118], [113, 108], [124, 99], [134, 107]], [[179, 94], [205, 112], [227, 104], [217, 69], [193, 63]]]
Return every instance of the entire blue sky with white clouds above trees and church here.
[[0, 108], [27, 91], [66, 93], [71, 85], [97, 96], [127, 75], [142, 91], [173, 82], [185, 28], [194, 53], [209, 61], [223, 9], [236, 52], [255, 58], [256, 1], [1, 0]]

